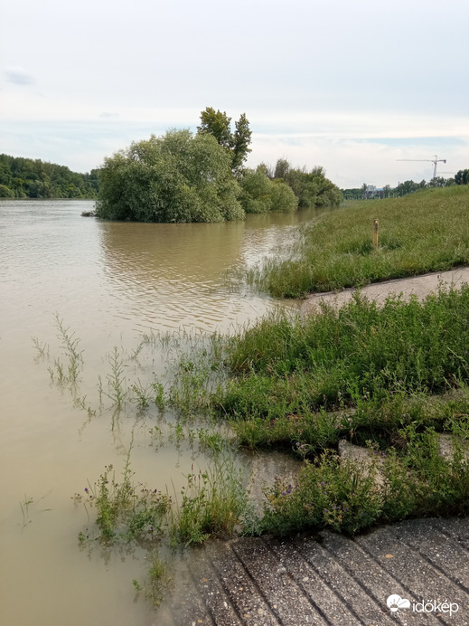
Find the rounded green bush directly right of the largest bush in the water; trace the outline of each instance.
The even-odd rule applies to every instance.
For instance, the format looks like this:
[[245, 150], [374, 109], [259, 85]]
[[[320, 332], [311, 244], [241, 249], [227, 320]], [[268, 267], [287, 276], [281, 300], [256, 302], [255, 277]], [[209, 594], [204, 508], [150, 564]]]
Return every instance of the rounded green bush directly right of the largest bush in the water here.
[[246, 170], [239, 184], [239, 202], [246, 213], [292, 213], [298, 207], [292, 189], [280, 180], [270, 180], [262, 166], [256, 170]]

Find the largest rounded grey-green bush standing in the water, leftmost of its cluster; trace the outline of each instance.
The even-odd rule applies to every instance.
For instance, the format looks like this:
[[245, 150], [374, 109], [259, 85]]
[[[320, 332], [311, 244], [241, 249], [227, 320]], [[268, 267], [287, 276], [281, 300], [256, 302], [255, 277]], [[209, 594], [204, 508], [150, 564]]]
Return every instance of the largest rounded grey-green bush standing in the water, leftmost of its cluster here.
[[133, 143], [99, 171], [97, 216], [137, 222], [242, 219], [230, 156], [207, 134], [171, 130]]

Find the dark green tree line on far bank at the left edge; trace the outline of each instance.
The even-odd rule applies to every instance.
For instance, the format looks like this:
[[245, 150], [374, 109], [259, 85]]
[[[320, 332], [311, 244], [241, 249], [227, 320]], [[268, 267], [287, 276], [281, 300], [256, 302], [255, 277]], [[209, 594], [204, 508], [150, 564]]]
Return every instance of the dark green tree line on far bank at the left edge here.
[[98, 171], [78, 174], [66, 166], [0, 155], [0, 198], [96, 198]]

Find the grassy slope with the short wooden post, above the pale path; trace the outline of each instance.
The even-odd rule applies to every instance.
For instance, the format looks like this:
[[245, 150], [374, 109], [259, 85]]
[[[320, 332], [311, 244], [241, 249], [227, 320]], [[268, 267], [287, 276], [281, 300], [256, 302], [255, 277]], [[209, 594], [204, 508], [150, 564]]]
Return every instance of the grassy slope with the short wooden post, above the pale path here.
[[266, 261], [249, 281], [275, 297], [298, 298], [466, 265], [468, 208], [469, 186], [355, 203], [306, 227], [290, 259]]

